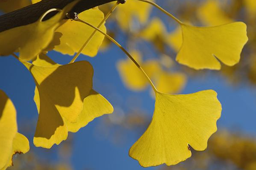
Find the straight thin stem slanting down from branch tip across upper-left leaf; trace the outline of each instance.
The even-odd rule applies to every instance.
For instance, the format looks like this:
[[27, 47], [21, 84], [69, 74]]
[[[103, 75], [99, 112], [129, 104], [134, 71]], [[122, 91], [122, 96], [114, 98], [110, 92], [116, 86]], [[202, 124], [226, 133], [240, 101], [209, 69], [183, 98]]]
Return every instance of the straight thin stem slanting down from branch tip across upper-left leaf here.
[[[111, 10], [106, 14], [104, 19], [99, 23], [97, 28], [100, 28], [102, 24], [108, 19], [108, 17], [112, 14], [112, 12], [116, 9], [116, 6], [119, 4], [119, 1], [116, 2], [116, 4], [111, 8]], [[77, 57], [81, 54], [81, 52], [84, 50], [85, 46], [90, 42], [90, 40], [93, 38], [93, 36], [96, 34], [97, 30], [94, 30], [93, 33], [90, 35], [90, 37], [84, 42], [84, 45], [80, 48], [80, 50], [76, 53], [76, 55], [73, 57], [73, 59], [69, 63], [75, 62]]]

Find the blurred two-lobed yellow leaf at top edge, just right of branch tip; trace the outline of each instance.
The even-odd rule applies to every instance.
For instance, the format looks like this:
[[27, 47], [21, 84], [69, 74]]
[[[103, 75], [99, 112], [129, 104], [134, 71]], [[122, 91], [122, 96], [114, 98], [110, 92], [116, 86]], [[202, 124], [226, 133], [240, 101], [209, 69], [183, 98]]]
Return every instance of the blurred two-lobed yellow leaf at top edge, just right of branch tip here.
[[[152, 0], [154, 1], [154, 0]], [[139, 23], [145, 24], [148, 20], [152, 6], [148, 3], [127, 0], [125, 4], [119, 5], [116, 9], [116, 19], [119, 26], [127, 31], [135, 18]]]

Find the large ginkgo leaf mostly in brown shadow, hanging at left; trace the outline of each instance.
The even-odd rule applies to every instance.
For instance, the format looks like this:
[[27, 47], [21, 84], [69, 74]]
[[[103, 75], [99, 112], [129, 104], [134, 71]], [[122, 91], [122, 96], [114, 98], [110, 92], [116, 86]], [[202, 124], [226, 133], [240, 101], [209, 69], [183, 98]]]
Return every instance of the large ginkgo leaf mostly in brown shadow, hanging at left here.
[[40, 98], [35, 100], [40, 102], [40, 109], [34, 144], [50, 148], [67, 139], [63, 118], [77, 122], [83, 100], [92, 89], [93, 68], [87, 61], [52, 67], [23, 64], [34, 77]]

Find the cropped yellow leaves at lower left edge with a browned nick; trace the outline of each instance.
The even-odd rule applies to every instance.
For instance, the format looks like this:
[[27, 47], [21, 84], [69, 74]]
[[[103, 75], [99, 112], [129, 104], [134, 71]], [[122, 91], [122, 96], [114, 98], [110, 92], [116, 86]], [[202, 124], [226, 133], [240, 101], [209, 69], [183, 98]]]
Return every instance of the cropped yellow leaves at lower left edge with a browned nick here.
[[0, 170], [12, 166], [12, 156], [29, 151], [29, 141], [17, 132], [16, 110], [0, 90]]

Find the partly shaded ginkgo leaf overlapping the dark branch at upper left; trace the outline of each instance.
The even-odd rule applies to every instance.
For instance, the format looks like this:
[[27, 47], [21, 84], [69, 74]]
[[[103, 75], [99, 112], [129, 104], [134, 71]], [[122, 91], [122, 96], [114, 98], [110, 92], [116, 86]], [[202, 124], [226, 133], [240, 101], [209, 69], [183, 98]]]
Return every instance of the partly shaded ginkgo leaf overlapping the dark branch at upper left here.
[[0, 32], [0, 56], [19, 52], [21, 59], [35, 58], [44, 48], [47, 48], [61, 20], [77, 2], [78, 0], [68, 4], [61, 12], [44, 22], [40, 19], [26, 26]]

